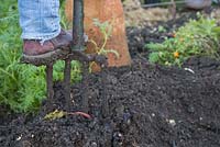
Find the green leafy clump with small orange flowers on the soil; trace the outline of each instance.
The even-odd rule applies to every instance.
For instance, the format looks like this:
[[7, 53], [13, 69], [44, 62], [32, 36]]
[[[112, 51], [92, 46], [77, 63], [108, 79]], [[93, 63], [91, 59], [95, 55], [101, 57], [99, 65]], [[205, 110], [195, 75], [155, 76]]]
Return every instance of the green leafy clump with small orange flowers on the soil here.
[[191, 56], [219, 57], [220, 26], [215, 19], [198, 15], [198, 20], [190, 20], [179, 27], [174, 37], [163, 43], [146, 44], [151, 54], [148, 60], [161, 65], [177, 65]]

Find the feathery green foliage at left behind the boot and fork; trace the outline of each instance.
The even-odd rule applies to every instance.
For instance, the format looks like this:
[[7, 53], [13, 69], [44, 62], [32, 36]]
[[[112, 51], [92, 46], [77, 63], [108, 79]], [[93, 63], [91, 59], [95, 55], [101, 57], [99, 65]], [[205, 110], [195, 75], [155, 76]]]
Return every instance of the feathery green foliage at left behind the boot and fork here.
[[[16, 0], [0, 4], [0, 104], [14, 112], [35, 112], [45, 99], [45, 67], [20, 63], [22, 54], [21, 30]], [[13, 3], [13, 4], [11, 4]], [[54, 66], [54, 79], [63, 79], [64, 63]], [[80, 64], [73, 61], [73, 82], [79, 81]]]

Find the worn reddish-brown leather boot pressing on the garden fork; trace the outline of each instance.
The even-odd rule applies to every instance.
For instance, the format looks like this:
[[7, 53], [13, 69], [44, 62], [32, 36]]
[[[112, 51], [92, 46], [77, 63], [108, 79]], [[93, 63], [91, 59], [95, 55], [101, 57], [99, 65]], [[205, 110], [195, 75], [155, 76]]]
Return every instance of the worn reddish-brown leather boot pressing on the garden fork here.
[[40, 41], [24, 39], [23, 53], [25, 56], [38, 56], [54, 52], [57, 48], [69, 47], [72, 41], [72, 33], [62, 30], [58, 36], [45, 41], [43, 45]]

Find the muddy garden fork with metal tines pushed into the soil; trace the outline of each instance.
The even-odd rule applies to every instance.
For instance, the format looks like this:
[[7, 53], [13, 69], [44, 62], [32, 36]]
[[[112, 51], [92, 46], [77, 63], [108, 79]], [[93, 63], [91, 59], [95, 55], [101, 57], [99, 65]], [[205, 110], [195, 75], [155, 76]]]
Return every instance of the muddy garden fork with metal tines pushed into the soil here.
[[[84, 78], [88, 75], [88, 65], [90, 61], [98, 63], [101, 67], [107, 67], [107, 58], [102, 55], [84, 53], [84, 0], [74, 0], [74, 21], [73, 21], [73, 43], [70, 47], [57, 48], [50, 57], [44, 58], [43, 55], [40, 58], [22, 57], [21, 61], [25, 64], [32, 64], [35, 66], [46, 66], [46, 87], [47, 87], [47, 99], [50, 102], [53, 101], [53, 65], [56, 60], [65, 60], [64, 69], [64, 93], [66, 99], [66, 109], [70, 109], [70, 69], [72, 60], [79, 60], [82, 63]], [[87, 82], [87, 80], [84, 80]], [[87, 83], [84, 83], [87, 84]], [[82, 110], [88, 112], [88, 97], [82, 97]]]

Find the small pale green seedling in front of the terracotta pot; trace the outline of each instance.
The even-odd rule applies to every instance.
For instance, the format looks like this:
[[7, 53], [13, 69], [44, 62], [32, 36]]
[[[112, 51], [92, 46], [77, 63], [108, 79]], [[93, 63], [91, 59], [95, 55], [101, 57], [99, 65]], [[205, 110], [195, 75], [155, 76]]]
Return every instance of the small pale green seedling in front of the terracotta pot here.
[[[107, 42], [111, 36], [112, 25], [108, 21], [101, 23], [98, 19], [94, 19], [94, 25], [96, 25], [100, 30], [103, 36], [103, 43], [101, 46], [98, 46], [98, 44], [94, 39], [88, 41], [89, 43], [94, 44], [96, 54], [107, 56], [108, 53], [112, 53], [116, 55], [117, 58], [119, 58], [119, 53], [117, 50], [106, 48]], [[92, 61], [89, 67], [91, 67], [94, 64], [96, 63]], [[89, 70], [91, 71], [91, 68], [89, 68]]]

